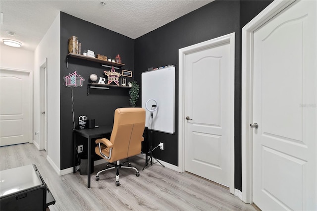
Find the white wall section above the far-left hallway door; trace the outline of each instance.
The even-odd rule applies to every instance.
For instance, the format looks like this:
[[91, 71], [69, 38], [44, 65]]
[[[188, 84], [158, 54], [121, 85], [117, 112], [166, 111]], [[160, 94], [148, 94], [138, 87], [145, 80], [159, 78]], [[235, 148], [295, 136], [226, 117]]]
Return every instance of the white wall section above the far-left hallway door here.
[[0, 66], [3, 69], [34, 70], [34, 52], [1, 44]]

